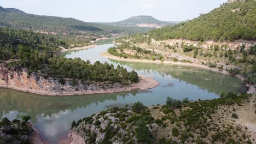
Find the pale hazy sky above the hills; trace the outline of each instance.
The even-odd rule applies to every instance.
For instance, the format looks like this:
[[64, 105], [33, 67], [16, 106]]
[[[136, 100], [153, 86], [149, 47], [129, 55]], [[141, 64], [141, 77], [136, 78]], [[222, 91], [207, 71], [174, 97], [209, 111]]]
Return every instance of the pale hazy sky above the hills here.
[[188, 20], [227, 0], [0, 0], [4, 8], [26, 13], [73, 17], [86, 22], [113, 22], [136, 15], [162, 21]]

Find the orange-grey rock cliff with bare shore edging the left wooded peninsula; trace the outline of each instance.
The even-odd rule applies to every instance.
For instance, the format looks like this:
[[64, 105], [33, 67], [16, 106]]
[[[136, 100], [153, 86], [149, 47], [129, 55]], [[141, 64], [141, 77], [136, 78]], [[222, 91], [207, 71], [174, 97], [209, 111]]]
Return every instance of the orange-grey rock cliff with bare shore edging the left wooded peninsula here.
[[[154, 86], [144, 87], [146, 83]], [[28, 75], [26, 69], [22, 71], [10, 71], [4, 64], [0, 65], [0, 87], [16, 89], [18, 91], [30, 92], [42, 95], [81, 95], [95, 93], [114, 93], [131, 91], [133, 89], [148, 89], [158, 86], [159, 83], [153, 79], [140, 80], [130, 86], [122, 86], [119, 83], [98, 83], [92, 81], [77, 81], [76, 86], [71, 85], [71, 80], [66, 80], [62, 85], [58, 80], [44, 79], [37, 74]]]

